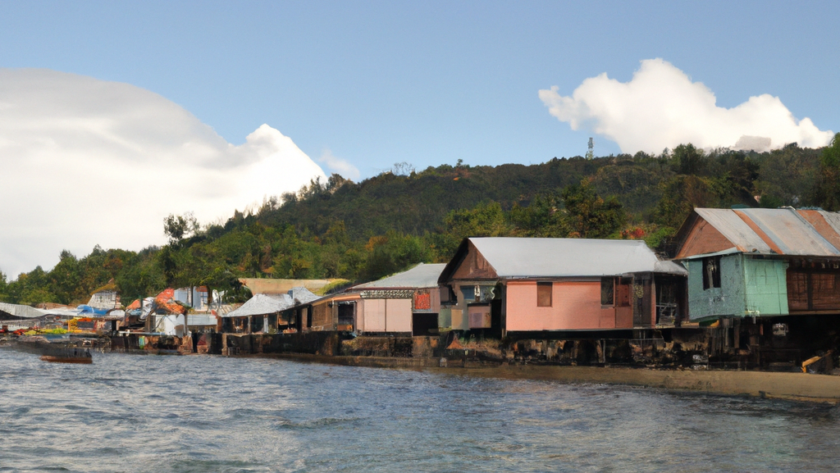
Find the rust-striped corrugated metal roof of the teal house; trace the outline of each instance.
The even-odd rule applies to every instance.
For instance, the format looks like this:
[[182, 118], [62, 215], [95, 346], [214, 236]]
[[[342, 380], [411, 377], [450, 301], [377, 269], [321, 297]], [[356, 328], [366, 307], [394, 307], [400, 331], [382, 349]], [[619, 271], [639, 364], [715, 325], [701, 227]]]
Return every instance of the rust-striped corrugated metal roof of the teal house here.
[[[678, 257], [700, 256], [688, 238], [699, 219], [731, 245], [722, 251], [760, 255], [840, 257], [840, 214], [824, 210], [694, 209], [677, 234]], [[725, 245], [725, 246], [728, 246]]]

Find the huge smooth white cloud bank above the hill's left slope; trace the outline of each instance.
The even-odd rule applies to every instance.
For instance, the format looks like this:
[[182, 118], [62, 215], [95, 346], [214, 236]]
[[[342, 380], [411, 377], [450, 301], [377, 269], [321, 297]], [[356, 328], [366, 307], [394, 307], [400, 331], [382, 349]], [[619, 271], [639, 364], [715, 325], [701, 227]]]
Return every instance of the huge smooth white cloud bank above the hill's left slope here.
[[208, 222], [326, 176], [268, 125], [234, 146], [129, 84], [0, 69], [0, 270], [49, 268], [62, 249], [138, 250], [163, 218]]

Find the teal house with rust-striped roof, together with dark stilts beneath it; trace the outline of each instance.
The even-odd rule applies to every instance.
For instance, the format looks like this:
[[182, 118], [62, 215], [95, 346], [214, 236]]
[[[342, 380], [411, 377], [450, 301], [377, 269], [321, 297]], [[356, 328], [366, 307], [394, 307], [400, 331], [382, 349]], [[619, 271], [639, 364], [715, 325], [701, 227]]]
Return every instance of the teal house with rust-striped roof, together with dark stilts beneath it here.
[[798, 365], [835, 346], [840, 214], [695, 209], [676, 235], [676, 258], [689, 271], [690, 319], [714, 328], [712, 353]]

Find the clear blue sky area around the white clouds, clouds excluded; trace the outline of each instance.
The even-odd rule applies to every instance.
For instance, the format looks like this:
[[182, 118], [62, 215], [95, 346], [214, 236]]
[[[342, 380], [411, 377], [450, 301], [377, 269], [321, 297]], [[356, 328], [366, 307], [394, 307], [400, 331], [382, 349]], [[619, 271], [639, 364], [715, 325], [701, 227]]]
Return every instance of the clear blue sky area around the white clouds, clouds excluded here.
[[[362, 177], [537, 163], [586, 151], [550, 116], [606, 72], [663, 58], [718, 105], [778, 96], [840, 130], [840, 2], [7, 2], [0, 66], [119, 81], [183, 106], [239, 144], [262, 123]], [[596, 154], [620, 152], [595, 135]]]

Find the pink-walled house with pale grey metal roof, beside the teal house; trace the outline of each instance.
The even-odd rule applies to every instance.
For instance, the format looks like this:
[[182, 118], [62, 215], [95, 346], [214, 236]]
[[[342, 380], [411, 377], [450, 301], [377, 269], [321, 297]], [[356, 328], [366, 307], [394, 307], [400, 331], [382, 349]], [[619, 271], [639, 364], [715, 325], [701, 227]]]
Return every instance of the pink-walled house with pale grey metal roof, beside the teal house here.
[[640, 240], [467, 238], [438, 280], [440, 322], [500, 334], [673, 326], [686, 276]]

